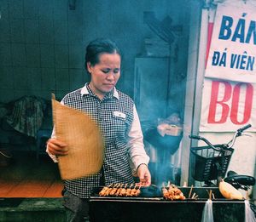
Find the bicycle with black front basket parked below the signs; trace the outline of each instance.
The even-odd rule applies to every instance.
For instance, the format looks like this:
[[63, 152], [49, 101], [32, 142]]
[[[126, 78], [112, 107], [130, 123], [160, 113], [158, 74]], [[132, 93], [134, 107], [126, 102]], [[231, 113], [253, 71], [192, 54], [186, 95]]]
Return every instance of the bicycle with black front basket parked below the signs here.
[[[237, 174], [235, 171], [227, 169], [230, 159], [234, 152], [233, 145], [236, 138], [243, 135], [243, 132], [250, 128], [251, 124], [238, 128], [233, 134], [232, 139], [228, 143], [212, 145], [212, 143], [201, 136], [189, 135], [190, 139], [202, 140], [205, 146], [191, 147], [191, 174], [192, 177], [200, 182], [204, 182], [203, 186], [216, 187], [219, 182], [224, 179], [225, 182], [233, 185], [237, 190], [248, 191], [255, 185], [255, 178], [245, 174]], [[256, 208], [253, 202], [250, 202], [253, 213], [256, 215]]]

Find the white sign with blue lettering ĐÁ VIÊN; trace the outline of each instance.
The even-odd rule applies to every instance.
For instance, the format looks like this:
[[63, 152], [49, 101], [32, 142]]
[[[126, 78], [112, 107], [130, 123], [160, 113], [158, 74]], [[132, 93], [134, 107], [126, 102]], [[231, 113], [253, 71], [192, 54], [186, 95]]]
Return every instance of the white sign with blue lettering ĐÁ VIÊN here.
[[218, 5], [205, 76], [256, 83], [256, 7]]

